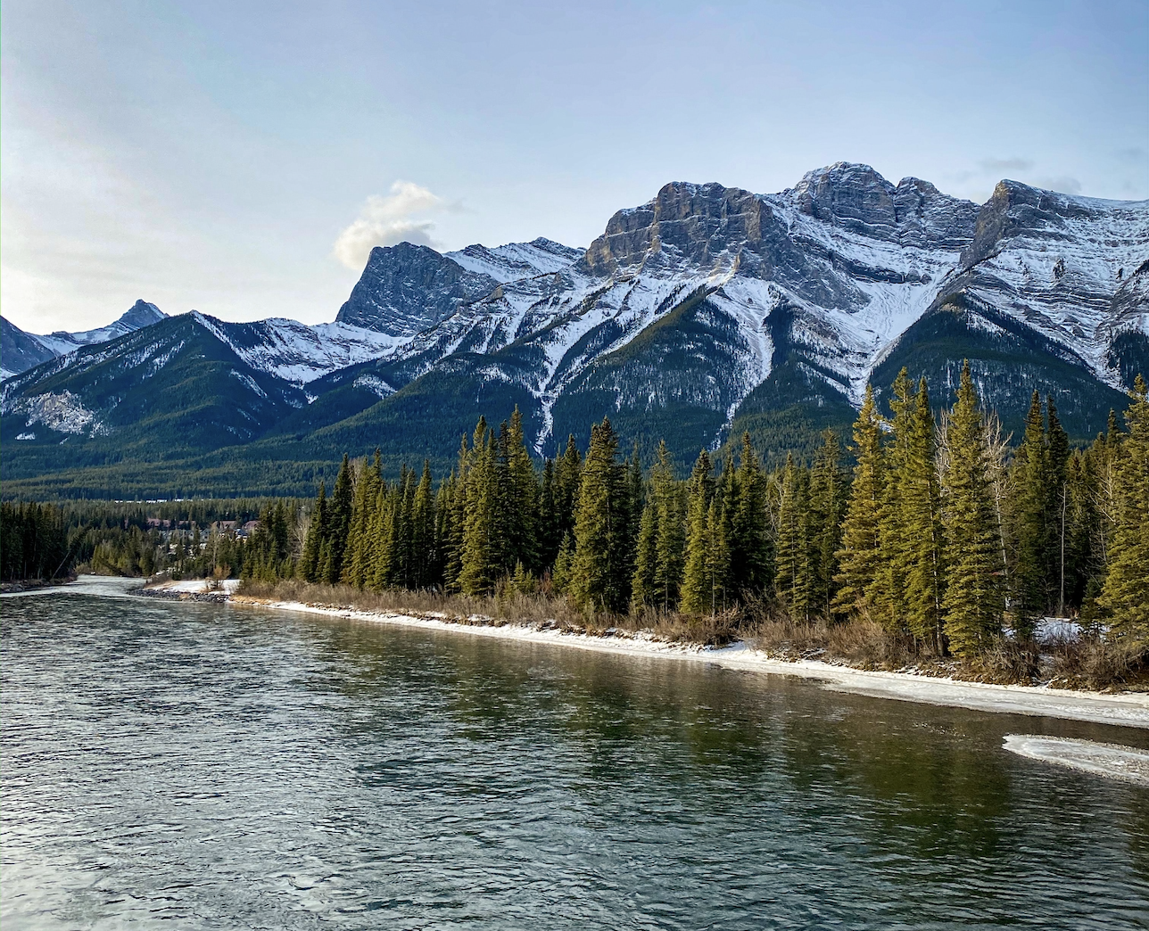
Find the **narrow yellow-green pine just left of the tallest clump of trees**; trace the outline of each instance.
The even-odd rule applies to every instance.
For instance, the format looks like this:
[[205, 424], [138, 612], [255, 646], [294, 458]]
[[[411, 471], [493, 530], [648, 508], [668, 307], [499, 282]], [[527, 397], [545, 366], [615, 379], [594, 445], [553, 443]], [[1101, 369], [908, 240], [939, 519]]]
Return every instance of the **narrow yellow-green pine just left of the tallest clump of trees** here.
[[842, 549], [835, 554], [839, 572], [834, 582], [839, 589], [833, 608], [854, 616], [871, 616], [874, 613], [874, 582], [882, 561], [879, 527], [886, 467], [881, 448], [881, 416], [869, 385], [854, 422], [853, 451], [857, 465], [842, 521]]

